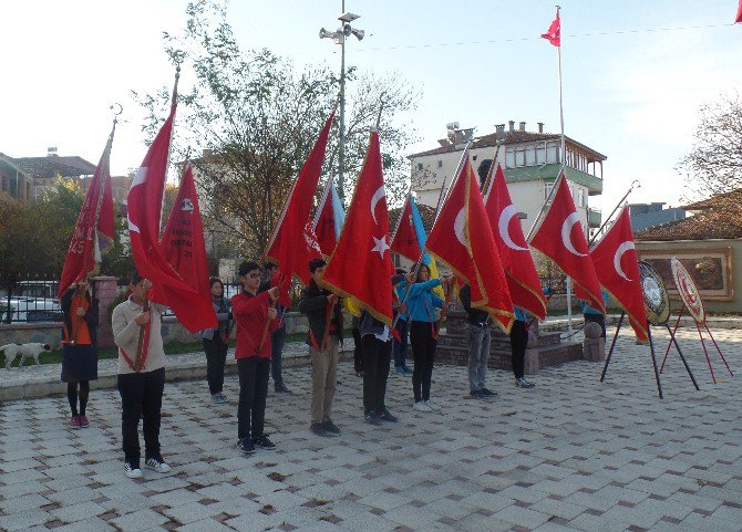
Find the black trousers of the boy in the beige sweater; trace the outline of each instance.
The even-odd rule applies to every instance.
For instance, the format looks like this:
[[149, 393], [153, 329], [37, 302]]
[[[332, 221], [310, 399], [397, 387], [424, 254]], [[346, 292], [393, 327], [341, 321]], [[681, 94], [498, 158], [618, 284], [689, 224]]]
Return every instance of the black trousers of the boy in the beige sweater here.
[[159, 423], [165, 389], [165, 368], [118, 375], [121, 395], [121, 436], [124, 457], [138, 463], [140, 418], [144, 434], [145, 458], [159, 458]]

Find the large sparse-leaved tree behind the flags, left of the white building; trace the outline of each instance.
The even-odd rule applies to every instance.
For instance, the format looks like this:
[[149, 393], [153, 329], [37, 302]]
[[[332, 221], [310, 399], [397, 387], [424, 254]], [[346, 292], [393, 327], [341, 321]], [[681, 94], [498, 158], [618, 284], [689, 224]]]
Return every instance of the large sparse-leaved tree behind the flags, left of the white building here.
[[[196, 77], [190, 92], [179, 96], [174, 159], [183, 160], [185, 146], [207, 148], [193, 160], [205, 196], [205, 229], [219, 234], [221, 243], [237, 243], [239, 254], [257, 257], [337, 101], [339, 76], [326, 66], [297, 72], [290, 61], [268, 50], [241, 51], [220, 0], [190, 2], [186, 15], [183, 36], [164, 35], [172, 61]], [[348, 74], [347, 200], [383, 100], [379, 129], [388, 194], [391, 202], [400, 201], [409, 182], [402, 150], [412, 136], [395, 121], [414, 107], [418, 93], [396, 75], [357, 75], [353, 69]], [[168, 91], [134, 97], [150, 111], [143, 129], [152, 138], [167, 108]], [[326, 176], [337, 170], [337, 127], [328, 144]]]

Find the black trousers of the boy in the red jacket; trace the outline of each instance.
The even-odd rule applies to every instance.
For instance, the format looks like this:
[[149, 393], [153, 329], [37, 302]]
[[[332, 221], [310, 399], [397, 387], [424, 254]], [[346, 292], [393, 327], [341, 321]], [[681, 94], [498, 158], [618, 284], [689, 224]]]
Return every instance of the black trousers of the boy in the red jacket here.
[[266, 397], [270, 358], [248, 356], [237, 359], [239, 404], [237, 405], [237, 438], [262, 436], [266, 423]]

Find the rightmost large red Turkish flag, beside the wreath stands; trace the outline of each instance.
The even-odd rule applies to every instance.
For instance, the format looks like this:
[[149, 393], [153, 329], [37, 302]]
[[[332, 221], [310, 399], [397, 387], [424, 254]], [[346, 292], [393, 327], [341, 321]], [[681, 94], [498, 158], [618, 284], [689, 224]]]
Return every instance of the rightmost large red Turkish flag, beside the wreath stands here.
[[628, 314], [637, 338], [647, 342], [645, 296], [628, 209], [621, 210], [612, 227], [592, 247], [590, 259], [606, 292]]

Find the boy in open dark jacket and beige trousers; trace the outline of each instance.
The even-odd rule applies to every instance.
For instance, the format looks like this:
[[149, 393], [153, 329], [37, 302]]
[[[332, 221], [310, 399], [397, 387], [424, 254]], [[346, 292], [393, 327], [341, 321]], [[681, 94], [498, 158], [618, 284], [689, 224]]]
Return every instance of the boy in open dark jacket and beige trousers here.
[[338, 346], [342, 344], [342, 312], [340, 298], [318, 284], [326, 265], [322, 259], [309, 261], [312, 279], [301, 291], [299, 312], [309, 320], [307, 344], [312, 374], [309, 428], [318, 436], [337, 436], [340, 429], [332, 423], [331, 415], [338, 382]]

